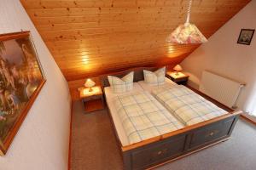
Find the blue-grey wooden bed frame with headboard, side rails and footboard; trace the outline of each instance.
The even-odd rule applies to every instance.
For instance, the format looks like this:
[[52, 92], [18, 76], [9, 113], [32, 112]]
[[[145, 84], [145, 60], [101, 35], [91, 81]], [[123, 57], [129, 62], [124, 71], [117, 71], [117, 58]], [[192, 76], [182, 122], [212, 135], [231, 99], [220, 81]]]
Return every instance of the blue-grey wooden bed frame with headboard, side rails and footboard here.
[[[115, 77], [124, 77], [130, 71], [134, 71], [134, 82], [138, 82], [144, 79], [143, 70], [156, 71], [157, 69], [158, 68], [156, 67], [140, 67], [113, 73], [111, 75]], [[101, 80], [102, 88], [109, 86], [107, 75], [102, 76]], [[230, 138], [241, 111], [233, 111], [229, 107], [208, 97], [206, 94], [202, 94], [193, 88], [190, 89], [229, 113], [206, 122], [186, 126], [171, 133], [166, 133], [152, 139], [143, 140], [142, 142], [126, 146], [122, 146], [119, 141], [117, 131], [113, 124], [113, 118], [111, 114], [109, 114], [116, 134], [116, 139], [119, 142], [125, 170], [158, 167]]]

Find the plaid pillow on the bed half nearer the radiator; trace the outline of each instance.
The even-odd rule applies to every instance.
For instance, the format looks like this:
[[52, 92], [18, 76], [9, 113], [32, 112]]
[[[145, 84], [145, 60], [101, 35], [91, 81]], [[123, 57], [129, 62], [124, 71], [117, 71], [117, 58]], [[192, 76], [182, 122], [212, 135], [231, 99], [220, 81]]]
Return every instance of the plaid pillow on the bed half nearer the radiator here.
[[166, 67], [162, 67], [157, 71], [143, 70], [144, 81], [149, 85], [160, 85], [165, 83]]

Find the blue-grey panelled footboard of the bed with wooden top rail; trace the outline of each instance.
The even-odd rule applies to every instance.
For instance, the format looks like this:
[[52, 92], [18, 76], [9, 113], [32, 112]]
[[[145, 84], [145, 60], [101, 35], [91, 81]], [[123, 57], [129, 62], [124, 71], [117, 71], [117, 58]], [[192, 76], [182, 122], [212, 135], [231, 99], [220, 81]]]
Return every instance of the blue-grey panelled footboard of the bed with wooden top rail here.
[[125, 170], [154, 167], [228, 139], [240, 112], [167, 133], [157, 141], [122, 147]]

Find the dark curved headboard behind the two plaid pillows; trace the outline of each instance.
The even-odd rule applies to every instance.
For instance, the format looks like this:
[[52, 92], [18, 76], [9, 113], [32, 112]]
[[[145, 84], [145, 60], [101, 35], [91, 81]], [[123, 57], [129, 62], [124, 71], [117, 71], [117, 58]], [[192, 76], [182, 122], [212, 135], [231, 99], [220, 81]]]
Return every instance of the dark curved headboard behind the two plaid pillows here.
[[139, 82], [139, 81], [144, 80], [143, 70], [156, 71], [157, 69], [159, 69], [159, 68], [158, 67], [137, 67], [137, 68], [131, 68], [131, 69], [128, 69], [125, 71], [119, 71], [119, 72], [102, 75], [100, 77], [100, 80], [102, 82], [102, 88], [110, 86], [109, 82], [108, 82], [108, 76], [121, 78], [121, 77], [124, 77], [129, 72], [134, 71], [133, 82]]

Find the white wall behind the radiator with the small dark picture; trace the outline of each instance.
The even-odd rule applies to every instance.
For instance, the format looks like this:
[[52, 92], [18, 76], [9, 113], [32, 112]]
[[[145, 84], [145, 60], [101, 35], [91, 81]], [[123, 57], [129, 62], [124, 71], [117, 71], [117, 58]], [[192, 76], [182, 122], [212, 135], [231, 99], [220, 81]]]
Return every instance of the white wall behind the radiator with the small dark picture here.
[[241, 28], [256, 28], [256, 0], [222, 26], [209, 38], [209, 42], [197, 48], [181, 65], [190, 75], [189, 85], [198, 88], [201, 73], [204, 70], [214, 71], [239, 82], [246, 82], [238, 100], [238, 106], [246, 110], [247, 100], [251, 98], [256, 81], [256, 35], [251, 45], [237, 44]]

